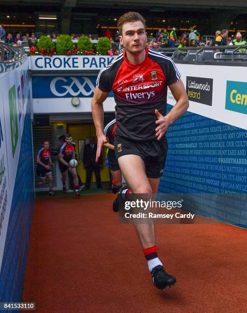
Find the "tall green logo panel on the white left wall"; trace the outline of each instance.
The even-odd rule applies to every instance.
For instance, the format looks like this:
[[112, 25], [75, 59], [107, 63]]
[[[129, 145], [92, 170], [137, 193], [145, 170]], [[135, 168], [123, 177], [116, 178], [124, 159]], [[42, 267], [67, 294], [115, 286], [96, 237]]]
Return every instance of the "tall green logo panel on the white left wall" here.
[[18, 142], [18, 118], [16, 109], [15, 85], [13, 85], [9, 90], [9, 114], [10, 114], [12, 155], [14, 158], [15, 149]]

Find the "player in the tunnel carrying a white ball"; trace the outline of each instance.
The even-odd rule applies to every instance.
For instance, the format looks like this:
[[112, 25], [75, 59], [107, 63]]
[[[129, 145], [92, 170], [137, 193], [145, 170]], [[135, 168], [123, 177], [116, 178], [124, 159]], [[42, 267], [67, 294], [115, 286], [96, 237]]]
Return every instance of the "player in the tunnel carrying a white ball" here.
[[67, 171], [69, 170], [74, 177], [74, 186], [75, 186], [75, 195], [80, 196], [79, 192], [79, 183], [78, 177], [76, 173], [76, 168], [72, 168], [69, 165], [69, 162], [72, 159], [75, 159], [75, 146], [76, 144], [73, 142], [73, 138], [70, 133], [65, 135], [65, 142], [61, 146], [59, 150], [59, 161], [60, 161], [60, 172], [62, 174], [62, 185], [63, 185], [63, 192], [66, 193], [66, 176]]

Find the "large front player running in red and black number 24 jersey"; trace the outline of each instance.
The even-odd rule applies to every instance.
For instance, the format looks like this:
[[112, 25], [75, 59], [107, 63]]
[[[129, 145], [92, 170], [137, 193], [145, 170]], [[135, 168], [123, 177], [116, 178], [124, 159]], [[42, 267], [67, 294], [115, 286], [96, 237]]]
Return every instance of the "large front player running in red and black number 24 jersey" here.
[[[92, 99], [92, 113], [98, 138], [96, 161], [102, 145], [103, 102], [113, 90], [116, 104], [117, 129], [115, 154], [127, 186], [119, 192], [156, 194], [164, 171], [167, 128], [181, 117], [189, 106], [188, 97], [174, 62], [146, 47], [145, 19], [136, 12], [122, 15], [118, 21], [119, 39], [125, 51], [101, 70]], [[167, 87], [176, 104], [166, 114]], [[126, 190], [126, 188], [128, 188]], [[129, 190], [130, 189], [130, 190]], [[153, 284], [165, 289], [176, 278], [165, 272], [155, 247], [154, 225], [135, 224]]]

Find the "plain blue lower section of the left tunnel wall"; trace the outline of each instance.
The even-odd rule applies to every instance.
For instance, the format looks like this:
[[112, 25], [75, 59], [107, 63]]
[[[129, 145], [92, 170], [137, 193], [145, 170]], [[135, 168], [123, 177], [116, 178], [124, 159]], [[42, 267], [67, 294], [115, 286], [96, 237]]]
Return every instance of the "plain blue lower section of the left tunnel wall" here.
[[29, 99], [0, 274], [0, 302], [21, 301], [23, 291], [34, 208], [30, 108]]

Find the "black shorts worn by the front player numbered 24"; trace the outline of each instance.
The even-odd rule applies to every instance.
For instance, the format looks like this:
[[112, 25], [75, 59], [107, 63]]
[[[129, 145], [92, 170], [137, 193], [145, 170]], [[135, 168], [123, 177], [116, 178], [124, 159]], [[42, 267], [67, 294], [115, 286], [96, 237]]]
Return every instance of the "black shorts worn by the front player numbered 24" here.
[[166, 137], [159, 141], [154, 139], [140, 142], [115, 136], [114, 145], [117, 159], [122, 155], [139, 155], [144, 161], [148, 178], [159, 178], [163, 175], [168, 150]]

